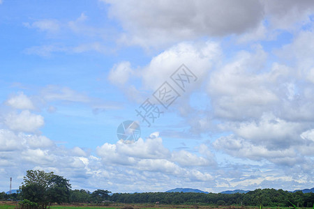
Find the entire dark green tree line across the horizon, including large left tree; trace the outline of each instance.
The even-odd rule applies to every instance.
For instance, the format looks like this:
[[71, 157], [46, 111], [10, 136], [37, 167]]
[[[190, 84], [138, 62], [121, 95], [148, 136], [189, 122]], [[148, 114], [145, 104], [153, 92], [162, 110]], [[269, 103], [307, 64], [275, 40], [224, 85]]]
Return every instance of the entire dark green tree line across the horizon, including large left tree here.
[[204, 194], [193, 192], [144, 192], [112, 194], [105, 189], [89, 192], [71, 189], [69, 180], [53, 172], [27, 171], [20, 192], [0, 193], [0, 200], [20, 201], [20, 208], [45, 209], [52, 203], [160, 203], [160, 204], [207, 204], [227, 206], [287, 207], [292, 203], [299, 207], [313, 207], [314, 193], [287, 192], [283, 189], [255, 189], [246, 194]]

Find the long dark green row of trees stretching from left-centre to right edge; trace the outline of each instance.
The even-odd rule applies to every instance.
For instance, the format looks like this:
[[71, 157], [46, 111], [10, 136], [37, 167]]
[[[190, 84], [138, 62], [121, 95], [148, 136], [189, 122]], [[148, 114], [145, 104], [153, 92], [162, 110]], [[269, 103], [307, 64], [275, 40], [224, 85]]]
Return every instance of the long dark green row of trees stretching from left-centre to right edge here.
[[[163, 204], [212, 204], [237, 206], [292, 206], [313, 207], [314, 193], [287, 192], [283, 189], [255, 189], [246, 194], [203, 194], [184, 192], [148, 192], [135, 194], [112, 194], [111, 201], [120, 203], [163, 203]], [[290, 202], [289, 202], [290, 201]]]

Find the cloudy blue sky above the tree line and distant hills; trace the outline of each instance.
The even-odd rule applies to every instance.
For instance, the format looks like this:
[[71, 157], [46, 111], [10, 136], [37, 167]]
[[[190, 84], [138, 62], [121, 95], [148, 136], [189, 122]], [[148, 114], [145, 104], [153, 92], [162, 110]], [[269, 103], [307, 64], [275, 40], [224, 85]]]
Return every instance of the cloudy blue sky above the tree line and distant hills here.
[[0, 191], [312, 188], [313, 55], [311, 0], [0, 0]]

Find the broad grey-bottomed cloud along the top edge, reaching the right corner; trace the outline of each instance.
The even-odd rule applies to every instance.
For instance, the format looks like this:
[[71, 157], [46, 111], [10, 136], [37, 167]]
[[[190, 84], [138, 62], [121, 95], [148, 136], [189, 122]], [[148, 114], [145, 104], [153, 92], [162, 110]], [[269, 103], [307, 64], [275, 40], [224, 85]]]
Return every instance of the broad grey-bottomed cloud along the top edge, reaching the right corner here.
[[[110, 1], [110, 17], [121, 21], [126, 33], [121, 41], [144, 47], [204, 36], [243, 34], [240, 42], [260, 40], [267, 34], [263, 20], [275, 29], [292, 29], [311, 22], [311, 0], [277, 1]], [[253, 36], [256, 35], [256, 36]]]

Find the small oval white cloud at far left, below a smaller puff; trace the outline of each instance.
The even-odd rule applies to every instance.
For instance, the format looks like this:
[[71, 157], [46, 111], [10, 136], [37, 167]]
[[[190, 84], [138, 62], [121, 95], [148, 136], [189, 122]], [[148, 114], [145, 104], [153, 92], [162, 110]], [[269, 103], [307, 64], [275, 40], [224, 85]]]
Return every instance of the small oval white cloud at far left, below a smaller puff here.
[[29, 110], [23, 110], [20, 114], [8, 114], [4, 123], [11, 130], [22, 132], [34, 132], [45, 124], [43, 116], [32, 114]]

